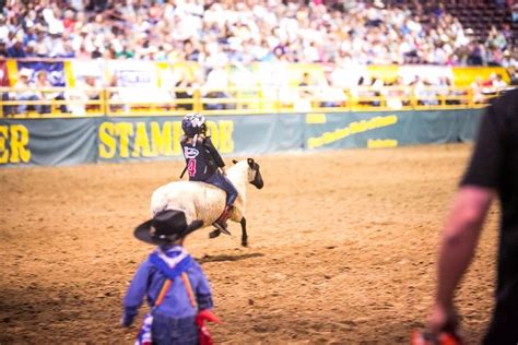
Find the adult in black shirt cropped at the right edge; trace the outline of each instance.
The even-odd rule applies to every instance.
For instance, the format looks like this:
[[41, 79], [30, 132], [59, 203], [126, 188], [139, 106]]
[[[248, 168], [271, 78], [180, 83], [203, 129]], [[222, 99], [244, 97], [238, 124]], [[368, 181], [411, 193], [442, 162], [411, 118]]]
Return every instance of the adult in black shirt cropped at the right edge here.
[[496, 305], [484, 344], [518, 343], [518, 90], [487, 108], [439, 249], [438, 282], [427, 329], [456, 330], [454, 293], [470, 264], [495, 195], [502, 207]]

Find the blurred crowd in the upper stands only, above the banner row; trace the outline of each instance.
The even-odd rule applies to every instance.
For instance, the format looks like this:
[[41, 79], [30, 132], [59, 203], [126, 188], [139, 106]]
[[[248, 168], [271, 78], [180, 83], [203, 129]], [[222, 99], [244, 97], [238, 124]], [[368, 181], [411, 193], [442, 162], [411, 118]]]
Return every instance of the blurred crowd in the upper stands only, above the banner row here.
[[[444, 4], [345, 0], [3, 0], [0, 57], [516, 64], [508, 27], [471, 41]], [[393, 1], [398, 3], [398, 1]]]

